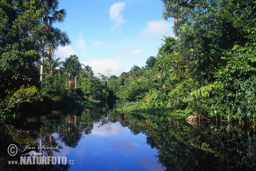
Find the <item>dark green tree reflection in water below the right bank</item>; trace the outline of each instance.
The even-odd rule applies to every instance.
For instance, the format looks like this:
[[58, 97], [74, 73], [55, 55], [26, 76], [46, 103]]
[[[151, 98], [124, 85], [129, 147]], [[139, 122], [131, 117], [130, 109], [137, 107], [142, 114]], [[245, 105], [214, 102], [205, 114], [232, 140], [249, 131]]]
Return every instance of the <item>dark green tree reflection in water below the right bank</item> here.
[[201, 118], [197, 125], [204, 126], [199, 127], [161, 114], [121, 116], [122, 126], [127, 126], [132, 133], [147, 135], [146, 143], [157, 148], [158, 162], [166, 170], [253, 170], [256, 166], [253, 125], [248, 128], [216, 126]]

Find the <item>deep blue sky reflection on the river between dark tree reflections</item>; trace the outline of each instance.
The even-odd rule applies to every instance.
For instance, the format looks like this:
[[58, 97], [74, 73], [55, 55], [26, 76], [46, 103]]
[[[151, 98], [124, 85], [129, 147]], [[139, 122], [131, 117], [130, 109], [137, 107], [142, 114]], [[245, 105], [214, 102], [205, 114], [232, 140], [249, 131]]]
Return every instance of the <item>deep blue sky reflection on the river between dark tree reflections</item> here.
[[[62, 156], [74, 160], [70, 171], [163, 171], [157, 164], [157, 149], [146, 144], [144, 134], [134, 135], [120, 123], [111, 123], [111, 131], [95, 124], [92, 134], [84, 135], [76, 148], [64, 147]], [[62, 143], [62, 145], [64, 145]]]

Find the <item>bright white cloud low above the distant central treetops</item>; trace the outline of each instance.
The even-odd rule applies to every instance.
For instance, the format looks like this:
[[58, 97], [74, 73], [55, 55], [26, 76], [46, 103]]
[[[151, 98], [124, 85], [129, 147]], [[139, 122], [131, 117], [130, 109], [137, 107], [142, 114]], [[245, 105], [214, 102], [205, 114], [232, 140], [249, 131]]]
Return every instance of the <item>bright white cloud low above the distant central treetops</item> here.
[[86, 66], [91, 66], [94, 72], [94, 76], [99, 76], [97, 73], [105, 74], [106, 68], [111, 68], [111, 74], [116, 76], [119, 76], [124, 70], [124, 65], [117, 60], [103, 59], [81, 63]]

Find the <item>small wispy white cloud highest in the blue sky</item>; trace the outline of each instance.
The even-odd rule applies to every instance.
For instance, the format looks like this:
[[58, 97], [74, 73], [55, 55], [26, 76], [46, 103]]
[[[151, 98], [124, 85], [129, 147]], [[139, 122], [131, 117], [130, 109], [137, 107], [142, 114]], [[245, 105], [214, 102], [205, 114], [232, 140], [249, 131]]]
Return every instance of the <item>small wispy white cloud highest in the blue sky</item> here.
[[114, 3], [109, 9], [109, 17], [114, 22], [113, 28], [119, 28], [125, 22], [121, 14], [125, 10], [125, 3]]

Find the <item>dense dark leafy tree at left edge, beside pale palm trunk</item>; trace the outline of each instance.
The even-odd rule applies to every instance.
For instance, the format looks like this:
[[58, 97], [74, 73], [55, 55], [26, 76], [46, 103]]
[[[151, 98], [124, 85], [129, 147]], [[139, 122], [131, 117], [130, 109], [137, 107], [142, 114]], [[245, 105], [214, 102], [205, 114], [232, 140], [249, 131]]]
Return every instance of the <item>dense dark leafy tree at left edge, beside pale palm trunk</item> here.
[[0, 1], [0, 99], [21, 85], [38, 85], [40, 34], [35, 1]]

